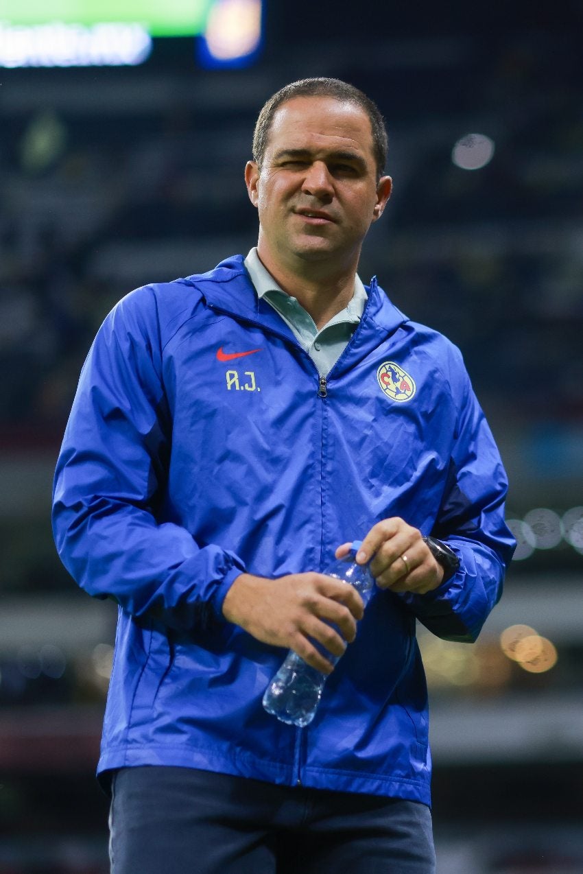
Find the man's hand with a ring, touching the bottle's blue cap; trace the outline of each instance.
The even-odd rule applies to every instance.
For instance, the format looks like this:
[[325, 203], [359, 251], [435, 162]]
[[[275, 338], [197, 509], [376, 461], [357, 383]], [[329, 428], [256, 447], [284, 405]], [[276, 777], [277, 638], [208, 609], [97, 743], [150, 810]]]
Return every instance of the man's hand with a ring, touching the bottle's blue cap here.
[[[343, 558], [350, 544], [338, 546]], [[371, 574], [381, 589], [425, 594], [440, 585], [443, 568], [421, 538], [421, 532], [404, 519], [392, 517], [373, 525], [357, 552], [357, 563], [371, 561]]]

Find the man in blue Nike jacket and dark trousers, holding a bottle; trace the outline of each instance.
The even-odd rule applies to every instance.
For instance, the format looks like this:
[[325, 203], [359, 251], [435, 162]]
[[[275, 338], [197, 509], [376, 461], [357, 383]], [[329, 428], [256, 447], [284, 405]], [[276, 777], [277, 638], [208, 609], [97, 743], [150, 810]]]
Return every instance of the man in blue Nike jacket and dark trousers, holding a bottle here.
[[[128, 295], [83, 368], [54, 530], [119, 604], [115, 874], [434, 871], [415, 620], [474, 640], [513, 541], [459, 352], [357, 276], [385, 152], [356, 88], [283, 88], [246, 165], [257, 248]], [[321, 573], [358, 537], [365, 615]], [[261, 707], [286, 648], [331, 673], [303, 729]]]

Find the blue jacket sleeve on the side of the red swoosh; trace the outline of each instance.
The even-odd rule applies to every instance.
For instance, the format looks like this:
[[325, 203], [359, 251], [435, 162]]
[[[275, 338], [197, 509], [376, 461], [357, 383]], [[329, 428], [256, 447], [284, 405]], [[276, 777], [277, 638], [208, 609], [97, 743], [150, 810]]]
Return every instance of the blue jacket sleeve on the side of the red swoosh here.
[[124, 298], [80, 375], [53, 486], [59, 555], [88, 593], [173, 628], [222, 618], [240, 559], [160, 520], [171, 422], [151, 288]]

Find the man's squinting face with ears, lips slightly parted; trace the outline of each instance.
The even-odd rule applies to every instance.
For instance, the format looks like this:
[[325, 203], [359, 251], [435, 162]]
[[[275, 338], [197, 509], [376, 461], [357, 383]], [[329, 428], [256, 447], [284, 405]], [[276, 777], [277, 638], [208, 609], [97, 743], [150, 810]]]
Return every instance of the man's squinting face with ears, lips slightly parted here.
[[331, 97], [295, 97], [277, 110], [263, 165], [249, 162], [246, 184], [260, 218], [266, 266], [302, 262], [357, 268], [360, 249], [391, 193], [377, 181], [371, 122]]

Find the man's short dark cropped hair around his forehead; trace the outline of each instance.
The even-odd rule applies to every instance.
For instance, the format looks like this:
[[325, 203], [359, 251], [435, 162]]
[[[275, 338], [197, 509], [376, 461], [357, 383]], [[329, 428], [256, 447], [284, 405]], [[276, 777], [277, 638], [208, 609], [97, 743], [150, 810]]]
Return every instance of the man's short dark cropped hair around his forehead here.
[[253, 132], [253, 160], [259, 167], [261, 167], [265, 157], [269, 131], [274, 123], [275, 113], [282, 103], [287, 103], [295, 97], [333, 97], [337, 101], [353, 103], [363, 109], [371, 122], [372, 148], [377, 163], [377, 173], [380, 177], [385, 170], [388, 139], [385, 121], [377, 104], [348, 82], [343, 82], [340, 79], [328, 79], [323, 76], [291, 82], [273, 94], [261, 109]]

